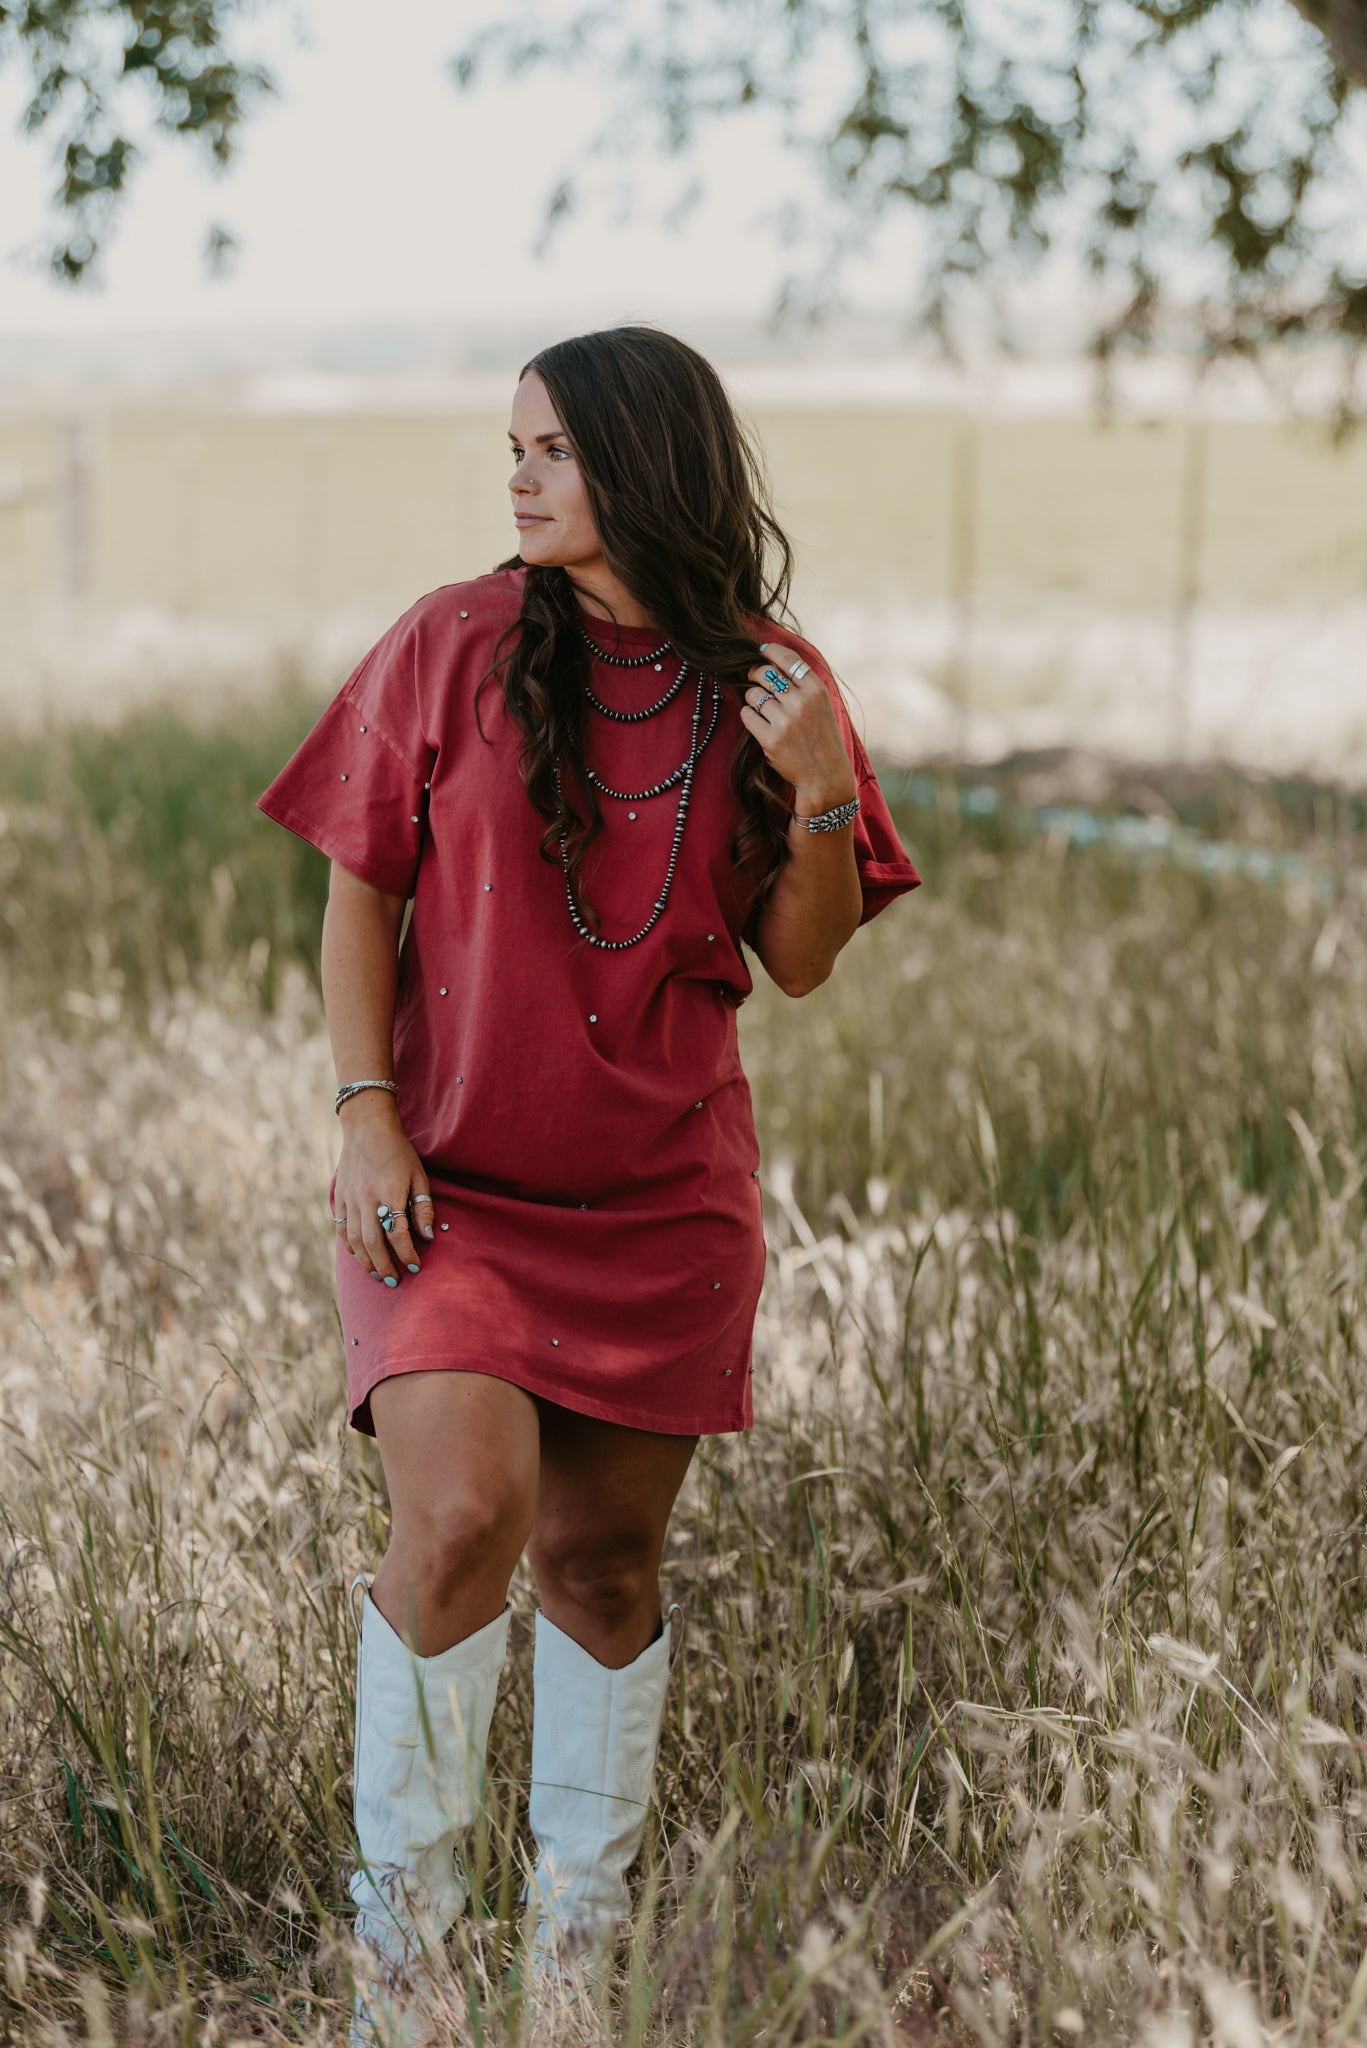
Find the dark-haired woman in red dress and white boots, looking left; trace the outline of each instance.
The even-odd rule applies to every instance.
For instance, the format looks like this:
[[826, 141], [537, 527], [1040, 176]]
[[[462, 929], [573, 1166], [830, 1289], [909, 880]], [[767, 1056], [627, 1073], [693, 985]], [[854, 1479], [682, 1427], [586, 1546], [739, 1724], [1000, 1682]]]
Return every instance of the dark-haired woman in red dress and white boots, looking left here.
[[742, 942], [805, 995], [918, 883], [830, 670], [771, 623], [791, 551], [715, 371], [650, 328], [560, 342], [510, 442], [519, 553], [404, 612], [258, 799], [332, 856], [338, 1309], [393, 1513], [353, 1896], [389, 1985], [465, 1903], [523, 1550], [533, 1958], [600, 1980], [670, 1507], [699, 1434], [752, 1421]]

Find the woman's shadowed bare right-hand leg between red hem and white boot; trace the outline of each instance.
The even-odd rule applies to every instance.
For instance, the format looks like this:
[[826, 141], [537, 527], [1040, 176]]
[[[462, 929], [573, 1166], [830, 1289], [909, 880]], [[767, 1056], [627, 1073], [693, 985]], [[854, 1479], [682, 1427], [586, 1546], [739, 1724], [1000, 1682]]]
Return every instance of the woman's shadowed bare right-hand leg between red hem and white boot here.
[[545, 1618], [613, 1669], [660, 1632], [660, 1552], [695, 1436], [625, 1430], [539, 1401], [527, 1556]]

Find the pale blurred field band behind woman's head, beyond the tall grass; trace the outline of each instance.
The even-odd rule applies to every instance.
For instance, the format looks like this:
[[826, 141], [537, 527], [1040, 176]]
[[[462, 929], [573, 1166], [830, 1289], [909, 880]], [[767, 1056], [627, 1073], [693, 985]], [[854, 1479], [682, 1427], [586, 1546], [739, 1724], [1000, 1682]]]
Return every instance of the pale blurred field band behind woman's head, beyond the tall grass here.
[[[12, 727], [336, 682], [510, 549], [512, 375], [0, 416]], [[1082, 743], [1367, 774], [1361, 436], [1236, 379], [1209, 403], [1168, 379], [1111, 420], [1080, 371], [1006, 371], [988, 399], [914, 360], [740, 360], [732, 383], [797, 539], [797, 616], [883, 758]]]

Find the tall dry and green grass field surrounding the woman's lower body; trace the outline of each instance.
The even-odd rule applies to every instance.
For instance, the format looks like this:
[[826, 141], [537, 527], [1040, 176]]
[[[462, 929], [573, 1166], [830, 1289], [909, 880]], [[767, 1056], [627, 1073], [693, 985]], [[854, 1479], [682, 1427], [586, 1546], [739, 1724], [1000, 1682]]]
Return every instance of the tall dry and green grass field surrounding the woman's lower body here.
[[[273, 717], [0, 760], [0, 2007], [35, 2048], [322, 2044], [348, 1997], [385, 1497], [340, 1413], [324, 862], [250, 811], [307, 707]], [[740, 1012], [758, 1423], [670, 1534], [631, 2048], [1365, 2038], [1361, 807], [1166, 795], [1314, 872], [1070, 852], [945, 782], [904, 815], [926, 887]], [[514, 1604], [447, 1987], [480, 2044], [527, 2030]]]

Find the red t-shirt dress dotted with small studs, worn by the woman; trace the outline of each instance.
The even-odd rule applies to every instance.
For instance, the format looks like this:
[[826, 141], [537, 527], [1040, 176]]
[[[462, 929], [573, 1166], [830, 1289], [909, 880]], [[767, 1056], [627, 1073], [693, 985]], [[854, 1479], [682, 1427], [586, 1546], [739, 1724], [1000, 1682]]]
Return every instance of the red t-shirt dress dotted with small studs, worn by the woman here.
[[[402, 1272], [396, 1288], [338, 1239], [350, 1421], [373, 1434], [369, 1395], [393, 1372], [469, 1370], [635, 1430], [746, 1430], [764, 1231], [736, 1038], [754, 899], [754, 879], [730, 856], [740, 700], [721, 690], [664, 913], [635, 946], [590, 946], [570, 920], [560, 862], [541, 856], [545, 821], [527, 801], [498, 680], [475, 711], [494, 643], [521, 614], [523, 578], [500, 569], [418, 598], [256, 799], [361, 881], [412, 897], [393, 1079], [428, 1174], [434, 1237], [420, 1241], [422, 1272]], [[660, 641], [582, 616], [609, 653]], [[859, 778], [867, 922], [920, 877], [820, 653], [787, 627], [769, 637], [795, 647], [832, 694]], [[605, 705], [633, 711], [664, 696], [676, 662], [592, 662], [590, 674]], [[590, 709], [588, 766], [627, 793], [664, 780], [689, 754], [695, 702], [689, 672], [650, 719]], [[709, 717], [711, 686], [703, 733]], [[678, 784], [600, 805], [580, 899], [598, 909], [605, 938], [625, 938], [662, 893]]]

